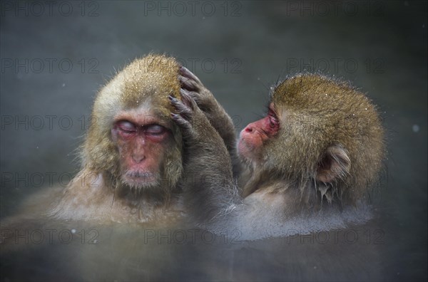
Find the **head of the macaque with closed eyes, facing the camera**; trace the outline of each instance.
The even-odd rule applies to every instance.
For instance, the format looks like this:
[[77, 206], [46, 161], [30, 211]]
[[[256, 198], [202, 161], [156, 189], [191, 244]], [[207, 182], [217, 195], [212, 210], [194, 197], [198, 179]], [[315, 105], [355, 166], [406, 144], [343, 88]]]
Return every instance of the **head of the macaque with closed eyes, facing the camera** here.
[[136, 59], [98, 93], [83, 145], [83, 165], [112, 187], [172, 189], [183, 170], [182, 141], [168, 95], [180, 97], [178, 63]]

